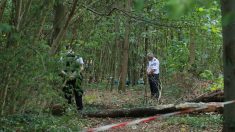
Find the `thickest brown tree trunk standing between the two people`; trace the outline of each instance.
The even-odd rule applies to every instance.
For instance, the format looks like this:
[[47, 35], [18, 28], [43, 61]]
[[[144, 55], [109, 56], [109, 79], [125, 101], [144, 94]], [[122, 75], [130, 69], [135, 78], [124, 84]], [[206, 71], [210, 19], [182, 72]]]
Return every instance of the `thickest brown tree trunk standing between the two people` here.
[[[126, 9], [130, 11], [131, 0], [127, 0]], [[121, 67], [121, 78], [118, 90], [125, 91], [126, 75], [128, 68], [128, 56], [129, 56], [129, 34], [130, 34], [130, 18], [127, 17], [125, 25], [125, 40], [123, 46], [123, 56], [122, 56], [122, 67]]]

